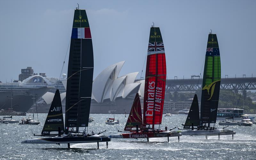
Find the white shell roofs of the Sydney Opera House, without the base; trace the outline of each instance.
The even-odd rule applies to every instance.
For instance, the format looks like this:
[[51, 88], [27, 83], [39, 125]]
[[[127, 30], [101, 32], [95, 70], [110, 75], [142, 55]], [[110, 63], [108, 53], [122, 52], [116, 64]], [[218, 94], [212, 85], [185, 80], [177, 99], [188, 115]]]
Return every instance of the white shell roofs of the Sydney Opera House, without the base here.
[[139, 91], [140, 83], [134, 83], [139, 72], [118, 77], [123, 65], [124, 61], [121, 61], [108, 66], [95, 78], [92, 83], [92, 100], [98, 103], [116, 101], [116, 99], [125, 99]]

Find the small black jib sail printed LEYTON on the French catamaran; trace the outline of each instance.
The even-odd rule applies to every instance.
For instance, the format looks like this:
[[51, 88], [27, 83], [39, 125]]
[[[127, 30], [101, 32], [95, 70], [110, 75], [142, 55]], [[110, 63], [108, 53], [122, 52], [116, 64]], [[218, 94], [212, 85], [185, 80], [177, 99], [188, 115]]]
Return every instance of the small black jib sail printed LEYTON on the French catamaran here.
[[60, 99], [59, 89], [56, 90], [55, 95], [52, 100], [52, 105], [50, 107], [49, 113], [46, 117], [44, 127], [41, 135], [51, 135], [58, 134], [58, 128], [60, 127], [60, 132], [64, 133], [64, 120]]

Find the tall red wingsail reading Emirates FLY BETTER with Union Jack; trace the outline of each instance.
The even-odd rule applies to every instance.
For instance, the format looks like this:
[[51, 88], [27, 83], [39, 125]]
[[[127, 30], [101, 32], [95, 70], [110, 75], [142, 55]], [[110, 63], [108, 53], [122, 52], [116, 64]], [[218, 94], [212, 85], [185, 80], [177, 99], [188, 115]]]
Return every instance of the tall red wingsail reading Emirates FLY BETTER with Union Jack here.
[[160, 129], [164, 108], [166, 61], [159, 27], [151, 27], [145, 76], [143, 127]]

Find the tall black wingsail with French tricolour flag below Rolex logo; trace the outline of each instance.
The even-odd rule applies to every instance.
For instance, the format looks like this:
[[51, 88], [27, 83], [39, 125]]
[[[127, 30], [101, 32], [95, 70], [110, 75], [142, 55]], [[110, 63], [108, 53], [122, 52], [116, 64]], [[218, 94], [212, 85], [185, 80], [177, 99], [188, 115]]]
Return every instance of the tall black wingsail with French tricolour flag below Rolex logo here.
[[93, 50], [85, 10], [75, 10], [68, 61], [65, 127], [88, 127], [92, 96]]

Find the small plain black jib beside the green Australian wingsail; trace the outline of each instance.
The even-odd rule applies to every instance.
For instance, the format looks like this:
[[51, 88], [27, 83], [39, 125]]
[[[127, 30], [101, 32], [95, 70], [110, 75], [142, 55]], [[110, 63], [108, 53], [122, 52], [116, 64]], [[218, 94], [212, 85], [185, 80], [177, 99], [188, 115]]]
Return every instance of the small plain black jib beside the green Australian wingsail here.
[[197, 95], [195, 94], [183, 129], [192, 129], [192, 123], [193, 128], [197, 128], [197, 126], [199, 126], [199, 121], [199, 105]]

